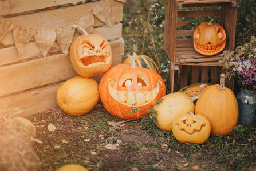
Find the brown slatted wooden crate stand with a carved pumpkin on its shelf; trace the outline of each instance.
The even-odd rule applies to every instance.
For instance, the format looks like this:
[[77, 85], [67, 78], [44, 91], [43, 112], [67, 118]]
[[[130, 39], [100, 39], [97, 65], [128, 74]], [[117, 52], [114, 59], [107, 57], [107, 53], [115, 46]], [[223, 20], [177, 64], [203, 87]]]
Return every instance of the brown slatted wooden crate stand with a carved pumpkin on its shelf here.
[[[196, 8], [197, 7], [197, 8]], [[198, 7], [214, 7], [210, 10], [200, 10]], [[183, 9], [183, 10], [182, 10]], [[185, 9], [185, 10], [184, 10]], [[166, 1], [166, 24], [164, 31], [164, 49], [171, 59], [170, 71], [170, 92], [175, 92], [178, 87], [180, 75], [180, 88], [187, 86], [188, 66], [192, 66], [192, 83], [202, 80], [218, 82], [219, 63], [223, 59], [219, 54], [211, 57], [203, 56], [195, 51], [192, 35], [194, 28], [188, 28], [194, 23], [194, 18], [219, 17], [220, 25], [225, 29], [227, 35], [226, 47], [224, 50], [234, 50], [235, 27], [237, 23], [237, 2], [230, 0], [170, 0]], [[184, 19], [185, 18], [185, 19]], [[186, 19], [187, 18], [187, 19]], [[188, 19], [189, 18], [189, 19]], [[192, 19], [191, 19], [192, 18]], [[183, 19], [183, 21], [181, 21]], [[203, 21], [203, 22], [205, 22]], [[196, 26], [199, 23], [196, 23]], [[182, 66], [178, 74], [179, 66]], [[184, 66], [184, 67], [183, 67]], [[202, 67], [202, 74], [199, 73], [199, 66]], [[221, 68], [220, 68], [221, 70]], [[200, 69], [201, 71], [201, 69]], [[208, 72], [211, 71], [211, 72]], [[186, 74], [184, 74], [186, 73]], [[217, 79], [216, 79], [217, 78]], [[234, 80], [226, 80], [226, 86], [234, 89]]]

